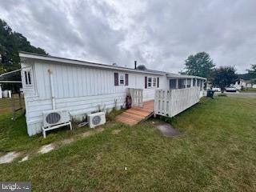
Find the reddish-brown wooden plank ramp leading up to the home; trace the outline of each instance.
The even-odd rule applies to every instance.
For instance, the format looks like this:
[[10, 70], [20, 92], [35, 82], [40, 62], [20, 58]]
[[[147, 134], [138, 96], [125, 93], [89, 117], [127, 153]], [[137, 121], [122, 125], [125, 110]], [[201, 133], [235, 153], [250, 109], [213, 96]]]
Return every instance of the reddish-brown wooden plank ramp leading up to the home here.
[[133, 106], [129, 110], [119, 114], [115, 120], [117, 122], [123, 122], [130, 126], [141, 122], [147, 118], [150, 118], [154, 114], [154, 100], [143, 102], [143, 107]]

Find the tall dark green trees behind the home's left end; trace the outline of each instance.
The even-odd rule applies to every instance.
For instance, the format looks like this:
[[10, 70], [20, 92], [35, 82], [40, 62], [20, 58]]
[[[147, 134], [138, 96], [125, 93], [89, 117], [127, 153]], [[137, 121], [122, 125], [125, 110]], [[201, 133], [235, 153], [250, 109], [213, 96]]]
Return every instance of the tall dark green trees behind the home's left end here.
[[46, 54], [45, 50], [30, 45], [27, 39], [17, 32], [13, 32], [5, 21], [0, 19], [0, 74], [20, 68], [18, 51]]

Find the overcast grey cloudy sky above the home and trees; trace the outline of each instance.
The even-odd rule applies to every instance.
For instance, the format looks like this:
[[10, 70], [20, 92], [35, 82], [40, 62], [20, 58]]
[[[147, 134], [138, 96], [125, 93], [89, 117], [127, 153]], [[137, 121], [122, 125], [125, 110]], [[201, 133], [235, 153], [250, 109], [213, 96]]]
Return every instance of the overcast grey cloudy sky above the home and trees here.
[[0, 18], [59, 57], [169, 72], [200, 51], [239, 73], [256, 63], [255, 0], [0, 0]]

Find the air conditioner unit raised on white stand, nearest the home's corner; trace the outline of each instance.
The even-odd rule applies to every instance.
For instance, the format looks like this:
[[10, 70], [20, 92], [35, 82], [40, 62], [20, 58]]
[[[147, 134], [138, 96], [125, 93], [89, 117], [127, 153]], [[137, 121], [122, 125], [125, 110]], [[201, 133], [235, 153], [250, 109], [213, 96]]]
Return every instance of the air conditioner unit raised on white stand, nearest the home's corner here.
[[42, 134], [44, 138], [46, 138], [47, 130], [54, 130], [62, 126], [70, 126], [70, 130], [72, 130], [68, 110], [47, 110], [42, 112], [42, 117]]

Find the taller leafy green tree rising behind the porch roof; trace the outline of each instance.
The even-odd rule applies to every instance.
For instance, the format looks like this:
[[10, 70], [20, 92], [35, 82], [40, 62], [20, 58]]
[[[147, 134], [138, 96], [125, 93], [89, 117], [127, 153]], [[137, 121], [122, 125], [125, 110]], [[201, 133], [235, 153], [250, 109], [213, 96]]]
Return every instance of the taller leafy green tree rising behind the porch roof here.
[[214, 62], [206, 52], [190, 55], [185, 60], [185, 71], [182, 74], [196, 75], [203, 78], [210, 78], [214, 69]]

